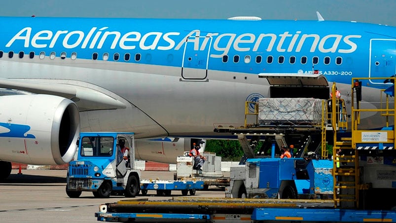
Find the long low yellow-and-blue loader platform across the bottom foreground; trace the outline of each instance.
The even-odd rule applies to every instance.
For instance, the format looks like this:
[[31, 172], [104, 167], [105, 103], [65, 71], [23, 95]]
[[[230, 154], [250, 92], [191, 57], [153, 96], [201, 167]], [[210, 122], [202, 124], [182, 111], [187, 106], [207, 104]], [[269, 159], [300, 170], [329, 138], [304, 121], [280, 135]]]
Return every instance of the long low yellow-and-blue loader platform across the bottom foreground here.
[[177, 198], [102, 204], [103, 222], [396, 222], [395, 211], [335, 209], [331, 200]]

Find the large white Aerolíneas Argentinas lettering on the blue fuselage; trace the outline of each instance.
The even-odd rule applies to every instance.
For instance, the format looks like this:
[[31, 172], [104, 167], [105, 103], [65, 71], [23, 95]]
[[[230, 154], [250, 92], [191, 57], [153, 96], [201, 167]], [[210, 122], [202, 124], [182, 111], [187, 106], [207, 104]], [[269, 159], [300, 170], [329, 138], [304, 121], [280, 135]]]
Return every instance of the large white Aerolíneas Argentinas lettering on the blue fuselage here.
[[213, 41], [210, 56], [221, 58], [228, 54], [230, 49], [238, 52], [300, 52], [304, 48], [310, 52], [352, 53], [358, 48], [354, 40], [361, 38], [360, 35], [329, 34], [320, 36], [319, 34], [303, 34], [301, 31], [294, 33], [286, 31], [279, 34], [205, 33], [201, 36], [200, 30], [193, 30], [187, 35], [181, 35], [179, 32], [140, 33], [132, 31], [121, 33], [119, 31], [106, 31], [108, 29], [109, 27], [99, 29], [92, 27], [89, 31], [34, 31], [32, 27], [25, 27], [11, 37], [5, 46], [11, 47], [18, 42], [18, 44], [23, 43], [24, 47], [32, 46], [34, 48], [62, 46], [66, 49], [179, 50], [184, 47], [188, 38], [187, 42], [193, 43], [196, 51], [208, 51], [210, 42]]

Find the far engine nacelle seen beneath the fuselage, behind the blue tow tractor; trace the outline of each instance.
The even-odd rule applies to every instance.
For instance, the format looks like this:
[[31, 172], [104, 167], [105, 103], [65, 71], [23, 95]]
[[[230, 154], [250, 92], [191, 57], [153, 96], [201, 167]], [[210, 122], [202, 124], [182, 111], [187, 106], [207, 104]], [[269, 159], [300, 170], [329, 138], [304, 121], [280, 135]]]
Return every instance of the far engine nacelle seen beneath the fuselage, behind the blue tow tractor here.
[[200, 145], [200, 152], [205, 150], [203, 139], [163, 138], [135, 141], [135, 158], [160, 163], [176, 163], [178, 156], [190, 151], [193, 144]]

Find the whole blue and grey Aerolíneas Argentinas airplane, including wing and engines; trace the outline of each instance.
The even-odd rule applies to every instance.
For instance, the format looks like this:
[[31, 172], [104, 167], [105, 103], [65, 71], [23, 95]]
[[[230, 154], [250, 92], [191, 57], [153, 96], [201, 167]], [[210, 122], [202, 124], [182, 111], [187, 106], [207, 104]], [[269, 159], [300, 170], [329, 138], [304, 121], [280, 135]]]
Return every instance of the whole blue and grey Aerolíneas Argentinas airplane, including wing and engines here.
[[[9, 162], [69, 162], [79, 131], [173, 137], [164, 141], [180, 149], [166, 154], [163, 142], [141, 142], [142, 158], [161, 161], [194, 140], [230, 137], [213, 130], [244, 123], [245, 101], [328, 99], [336, 82], [348, 104], [352, 77], [396, 74], [395, 27], [321, 17], [0, 17], [2, 175]], [[321, 78], [308, 78], [314, 71]], [[374, 92], [384, 84], [362, 81], [362, 107], [379, 106]]]

